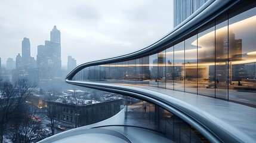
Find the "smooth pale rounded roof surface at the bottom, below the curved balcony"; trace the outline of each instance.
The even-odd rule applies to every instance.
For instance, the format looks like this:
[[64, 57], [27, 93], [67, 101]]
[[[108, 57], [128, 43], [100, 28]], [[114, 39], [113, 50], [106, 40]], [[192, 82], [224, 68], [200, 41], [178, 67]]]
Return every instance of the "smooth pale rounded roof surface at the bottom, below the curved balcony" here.
[[165, 138], [164, 133], [135, 126], [124, 126], [124, 115], [125, 110], [121, 110], [109, 119], [67, 130], [39, 142], [173, 142]]

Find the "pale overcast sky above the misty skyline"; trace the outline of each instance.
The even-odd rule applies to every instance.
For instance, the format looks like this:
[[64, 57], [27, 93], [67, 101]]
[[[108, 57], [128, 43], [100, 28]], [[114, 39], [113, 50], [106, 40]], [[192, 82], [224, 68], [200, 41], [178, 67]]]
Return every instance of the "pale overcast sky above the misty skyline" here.
[[171, 0], [1, 0], [0, 57], [2, 64], [15, 60], [26, 37], [36, 58], [54, 25], [61, 32], [63, 66], [68, 55], [82, 64], [129, 54], [169, 33], [172, 17]]

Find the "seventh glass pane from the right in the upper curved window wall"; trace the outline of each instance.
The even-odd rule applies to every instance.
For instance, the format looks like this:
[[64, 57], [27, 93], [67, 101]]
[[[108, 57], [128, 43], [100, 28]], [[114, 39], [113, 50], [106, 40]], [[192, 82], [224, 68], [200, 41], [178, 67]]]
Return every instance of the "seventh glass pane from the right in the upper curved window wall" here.
[[165, 88], [165, 50], [158, 53], [158, 87]]

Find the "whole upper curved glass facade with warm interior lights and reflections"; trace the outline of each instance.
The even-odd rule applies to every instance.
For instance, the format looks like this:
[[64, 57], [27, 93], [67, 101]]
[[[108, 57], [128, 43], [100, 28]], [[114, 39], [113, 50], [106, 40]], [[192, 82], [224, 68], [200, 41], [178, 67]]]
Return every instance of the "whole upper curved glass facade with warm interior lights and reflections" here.
[[256, 107], [255, 5], [237, 5], [164, 51], [86, 67], [72, 80], [155, 86]]

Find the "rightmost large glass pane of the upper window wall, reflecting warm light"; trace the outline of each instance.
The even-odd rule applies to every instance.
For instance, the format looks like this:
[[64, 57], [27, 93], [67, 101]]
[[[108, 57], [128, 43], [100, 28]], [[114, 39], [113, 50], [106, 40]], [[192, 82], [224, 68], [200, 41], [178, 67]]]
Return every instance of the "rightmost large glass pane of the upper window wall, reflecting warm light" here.
[[237, 13], [229, 19], [229, 100], [256, 105], [256, 8]]

